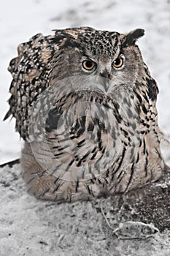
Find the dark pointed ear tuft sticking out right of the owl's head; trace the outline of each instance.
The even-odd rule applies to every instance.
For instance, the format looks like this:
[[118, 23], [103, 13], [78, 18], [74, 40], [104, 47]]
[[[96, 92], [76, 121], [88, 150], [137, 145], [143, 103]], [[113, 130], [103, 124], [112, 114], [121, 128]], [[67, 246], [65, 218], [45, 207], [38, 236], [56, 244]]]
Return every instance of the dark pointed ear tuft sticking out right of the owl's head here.
[[134, 45], [139, 37], [144, 36], [144, 29], [134, 29], [130, 31], [128, 34], [125, 34], [123, 38], [123, 47], [128, 45]]

